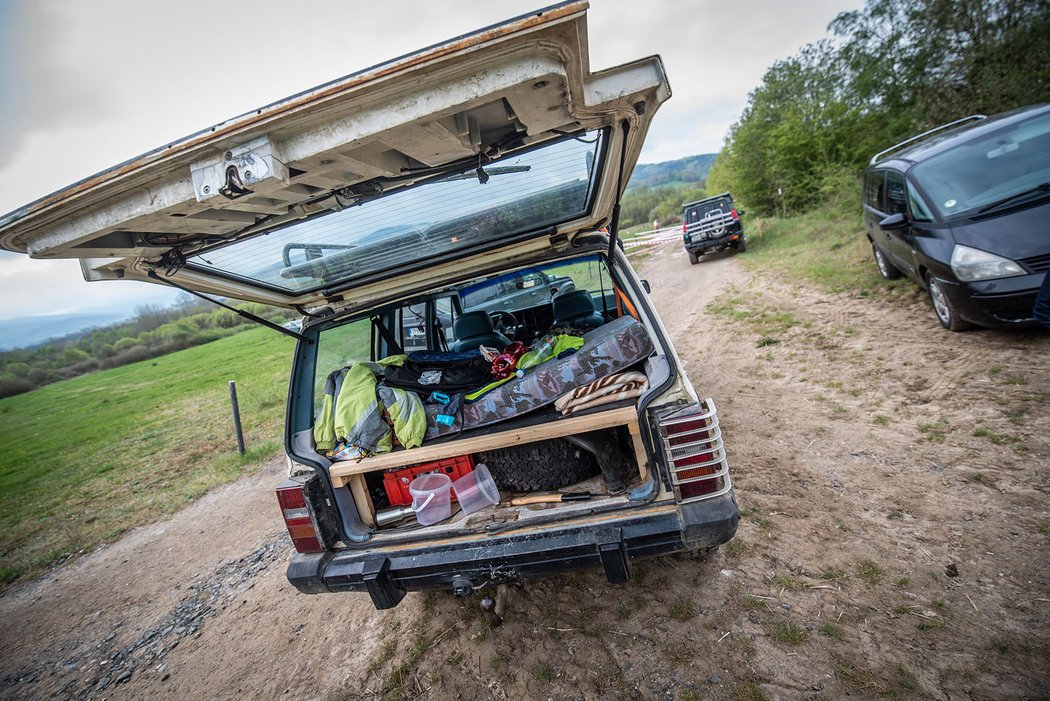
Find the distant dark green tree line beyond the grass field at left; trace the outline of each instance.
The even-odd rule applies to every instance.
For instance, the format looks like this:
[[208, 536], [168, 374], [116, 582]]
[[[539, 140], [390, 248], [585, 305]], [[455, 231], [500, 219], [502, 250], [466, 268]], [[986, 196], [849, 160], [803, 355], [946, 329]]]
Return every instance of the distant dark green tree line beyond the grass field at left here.
[[[290, 310], [266, 304], [245, 302], [236, 306], [278, 323], [295, 318]], [[170, 306], [145, 304], [135, 307], [130, 321], [0, 353], [0, 398], [156, 358], [251, 326], [254, 322], [191, 295], [184, 295]]]

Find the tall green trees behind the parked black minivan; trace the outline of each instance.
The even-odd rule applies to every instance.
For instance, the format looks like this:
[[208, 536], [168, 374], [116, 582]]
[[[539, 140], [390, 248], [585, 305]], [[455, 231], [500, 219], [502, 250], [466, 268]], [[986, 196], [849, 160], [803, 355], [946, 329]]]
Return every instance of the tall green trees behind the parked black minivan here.
[[849, 193], [877, 152], [932, 126], [1050, 99], [1047, 0], [868, 0], [776, 62], [709, 175], [756, 213]]

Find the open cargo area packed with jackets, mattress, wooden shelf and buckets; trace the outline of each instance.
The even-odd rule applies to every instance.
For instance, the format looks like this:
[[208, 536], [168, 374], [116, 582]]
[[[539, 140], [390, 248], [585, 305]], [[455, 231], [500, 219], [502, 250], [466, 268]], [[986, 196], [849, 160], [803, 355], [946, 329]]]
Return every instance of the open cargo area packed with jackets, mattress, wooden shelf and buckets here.
[[322, 334], [314, 447], [372, 536], [627, 503], [649, 477], [637, 401], [655, 348], [618, 295], [588, 256]]

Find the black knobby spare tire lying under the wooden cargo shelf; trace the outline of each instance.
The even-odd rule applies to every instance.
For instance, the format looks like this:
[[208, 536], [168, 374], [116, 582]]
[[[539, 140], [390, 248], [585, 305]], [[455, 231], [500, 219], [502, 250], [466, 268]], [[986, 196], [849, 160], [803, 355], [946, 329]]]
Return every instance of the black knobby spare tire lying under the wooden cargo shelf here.
[[517, 492], [561, 489], [602, 471], [592, 453], [561, 439], [478, 452], [475, 462], [501, 489]]

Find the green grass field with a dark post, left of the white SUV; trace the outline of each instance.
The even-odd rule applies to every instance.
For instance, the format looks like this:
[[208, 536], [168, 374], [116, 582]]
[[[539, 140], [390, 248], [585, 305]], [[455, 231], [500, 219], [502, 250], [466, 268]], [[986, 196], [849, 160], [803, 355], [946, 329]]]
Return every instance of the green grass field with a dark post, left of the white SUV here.
[[0, 583], [155, 521], [277, 452], [293, 348], [256, 328], [0, 400]]

